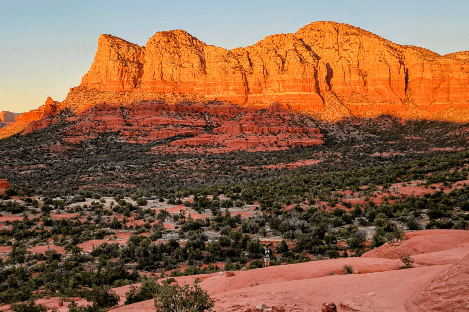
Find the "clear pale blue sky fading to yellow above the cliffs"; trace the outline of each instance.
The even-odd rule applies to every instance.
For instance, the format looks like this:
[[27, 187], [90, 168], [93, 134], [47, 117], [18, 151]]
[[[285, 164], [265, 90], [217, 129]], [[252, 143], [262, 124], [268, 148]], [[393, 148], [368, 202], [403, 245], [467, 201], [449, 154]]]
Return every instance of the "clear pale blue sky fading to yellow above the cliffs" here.
[[0, 111], [18, 113], [48, 96], [63, 101], [90, 69], [103, 33], [145, 46], [157, 31], [184, 29], [232, 49], [330, 20], [441, 55], [469, 50], [467, 0], [3, 0], [0, 7]]

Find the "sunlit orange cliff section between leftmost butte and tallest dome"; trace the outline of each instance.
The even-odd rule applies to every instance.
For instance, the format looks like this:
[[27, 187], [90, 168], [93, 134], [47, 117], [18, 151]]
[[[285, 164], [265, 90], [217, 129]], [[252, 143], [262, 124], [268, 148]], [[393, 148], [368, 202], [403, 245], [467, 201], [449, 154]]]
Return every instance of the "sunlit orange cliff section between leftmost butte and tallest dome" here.
[[183, 30], [158, 32], [147, 43], [142, 90], [199, 93], [238, 104], [289, 102], [296, 109], [319, 111], [317, 61], [292, 34], [229, 51]]

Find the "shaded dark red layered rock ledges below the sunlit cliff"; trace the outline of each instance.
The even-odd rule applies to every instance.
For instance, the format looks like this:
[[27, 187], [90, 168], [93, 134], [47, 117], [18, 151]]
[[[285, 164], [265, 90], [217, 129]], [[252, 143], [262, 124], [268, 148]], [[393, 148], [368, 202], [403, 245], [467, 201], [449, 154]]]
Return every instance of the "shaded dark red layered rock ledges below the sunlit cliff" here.
[[[79, 144], [102, 133], [116, 133], [129, 143], [166, 139], [153, 153], [228, 153], [286, 150], [324, 144], [311, 117], [282, 109], [220, 104], [138, 102], [96, 105], [70, 117], [61, 130], [63, 142]], [[181, 138], [183, 137], [183, 138]]]

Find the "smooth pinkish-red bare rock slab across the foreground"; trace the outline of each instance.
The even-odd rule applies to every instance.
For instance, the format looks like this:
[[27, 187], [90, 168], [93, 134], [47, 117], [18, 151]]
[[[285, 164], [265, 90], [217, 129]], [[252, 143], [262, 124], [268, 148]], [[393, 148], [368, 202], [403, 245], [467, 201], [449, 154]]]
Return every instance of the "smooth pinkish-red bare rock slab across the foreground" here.
[[[334, 302], [341, 312], [468, 310], [469, 232], [428, 230], [408, 233], [406, 239], [359, 258], [236, 271], [230, 278], [214, 273], [176, 280], [192, 284], [201, 279], [200, 286], [215, 299], [214, 311], [219, 312], [244, 312], [261, 303], [285, 311], [316, 312], [325, 302]], [[397, 270], [402, 265], [397, 258], [405, 252], [414, 254], [417, 267]], [[345, 264], [357, 274], [344, 275]], [[116, 292], [124, 296], [128, 288]], [[114, 311], [153, 310], [149, 300]]]

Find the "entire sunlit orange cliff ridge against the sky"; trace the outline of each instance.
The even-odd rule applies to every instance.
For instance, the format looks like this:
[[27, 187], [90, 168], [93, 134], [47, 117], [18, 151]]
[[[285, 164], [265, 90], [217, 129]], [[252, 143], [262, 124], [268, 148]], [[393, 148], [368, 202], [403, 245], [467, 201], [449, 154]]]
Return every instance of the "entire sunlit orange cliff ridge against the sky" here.
[[[81, 112], [193, 94], [257, 108], [279, 102], [327, 121], [392, 114], [469, 122], [468, 82], [468, 51], [441, 56], [322, 21], [232, 50], [184, 30], [157, 32], [146, 47], [103, 34], [90, 71], [60, 105]], [[15, 129], [0, 138], [25, 128]]]

